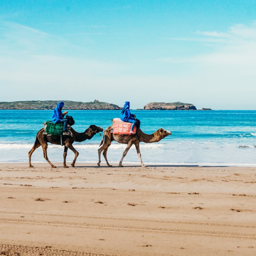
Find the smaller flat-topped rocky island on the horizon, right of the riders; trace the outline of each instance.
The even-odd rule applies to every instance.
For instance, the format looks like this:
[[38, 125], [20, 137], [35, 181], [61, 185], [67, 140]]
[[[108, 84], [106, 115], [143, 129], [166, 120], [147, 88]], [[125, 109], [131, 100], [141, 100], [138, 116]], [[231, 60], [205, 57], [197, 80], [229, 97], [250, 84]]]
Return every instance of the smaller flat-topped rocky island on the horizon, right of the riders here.
[[150, 102], [143, 107], [144, 110], [197, 110], [193, 104], [180, 101], [172, 103]]

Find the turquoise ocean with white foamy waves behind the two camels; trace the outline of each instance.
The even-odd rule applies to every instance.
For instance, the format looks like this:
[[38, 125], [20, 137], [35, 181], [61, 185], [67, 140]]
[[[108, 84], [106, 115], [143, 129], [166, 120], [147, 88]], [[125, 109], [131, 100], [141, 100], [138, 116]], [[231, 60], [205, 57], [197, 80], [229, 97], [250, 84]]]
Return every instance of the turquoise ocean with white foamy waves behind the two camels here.
[[[65, 110], [63, 110], [65, 111]], [[151, 134], [159, 128], [170, 130], [171, 136], [156, 143], [140, 142], [141, 157], [147, 165], [198, 165], [198, 166], [255, 166], [256, 165], [256, 110], [197, 110], [161, 111], [131, 110], [140, 119], [140, 128]], [[28, 162], [36, 133], [51, 118], [52, 110], [0, 110], [0, 162]], [[120, 110], [69, 110], [73, 128], [84, 132], [91, 124], [106, 129], [111, 119], [120, 116]], [[98, 148], [102, 136], [74, 142], [79, 152], [79, 163], [98, 162]], [[126, 145], [112, 142], [108, 161], [118, 165]], [[51, 162], [63, 161], [64, 147], [49, 144], [47, 154]], [[68, 150], [67, 162], [74, 153]], [[31, 157], [32, 164], [43, 162], [42, 148]], [[135, 147], [129, 150], [123, 164], [140, 166]], [[106, 165], [101, 156], [101, 166]], [[50, 166], [50, 165], [49, 165]]]

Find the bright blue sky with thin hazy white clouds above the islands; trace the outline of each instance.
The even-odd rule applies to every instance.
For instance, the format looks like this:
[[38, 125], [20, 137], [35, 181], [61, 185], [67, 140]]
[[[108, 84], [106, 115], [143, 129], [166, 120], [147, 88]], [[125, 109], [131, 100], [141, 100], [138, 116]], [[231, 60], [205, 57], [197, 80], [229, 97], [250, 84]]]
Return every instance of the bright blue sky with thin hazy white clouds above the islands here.
[[256, 109], [256, 0], [0, 1], [0, 101]]

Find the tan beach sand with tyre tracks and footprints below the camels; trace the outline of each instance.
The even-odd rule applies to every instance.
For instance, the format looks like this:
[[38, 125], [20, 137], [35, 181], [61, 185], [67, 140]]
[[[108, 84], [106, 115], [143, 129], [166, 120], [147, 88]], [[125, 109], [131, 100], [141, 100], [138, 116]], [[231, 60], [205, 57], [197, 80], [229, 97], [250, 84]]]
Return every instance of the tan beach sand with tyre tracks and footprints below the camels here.
[[256, 168], [33, 164], [0, 164], [0, 255], [256, 255]]

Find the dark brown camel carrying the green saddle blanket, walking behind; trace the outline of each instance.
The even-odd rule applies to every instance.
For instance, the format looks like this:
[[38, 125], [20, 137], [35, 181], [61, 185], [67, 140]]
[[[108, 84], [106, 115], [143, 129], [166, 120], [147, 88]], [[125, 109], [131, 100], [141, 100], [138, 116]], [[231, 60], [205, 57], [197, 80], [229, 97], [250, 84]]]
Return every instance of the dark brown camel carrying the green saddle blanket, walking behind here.
[[[92, 137], [96, 133], [103, 132], [103, 129], [100, 126], [91, 124], [90, 127], [85, 130], [85, 132], [76, 132], [72, 127], [70, 127], [70, 131], [72, 132], [72, 136], [63, 136], [62, 135], [62, 144], [64, 145], [64, 153], [63, 153], [64, 162], [63, 162], [63, 164], [64, 164], [65, 168], [68, 168], [68, 166], [66, 165], [66, 157], [67, 157], [68, 148], [70, 148], [75, 153], [75, 158], [71, 164], [72, 167], [75, 167], [76, 158], [79, 153], [73, 147], [73, 145], [72, 145], [73, 142], [74, 141], [81, 142], [81, 141], [84, 141], [87, 139], [91, 140]], [[44, 132], [44, 128], [42, 128], [39, 132], [37, 132], [36, 141], [34, 143], [34, 146], [28, 152], [29, 167], [34, 167], [33, 165], [31, 165], [31, 155], [36, 150], [36, 148], [39, 148], [40, 146], [42, 146], [45, 160], [49, 164], [51, 164], [52, 168], [56, 168], [56, 166], [54, 166], [47, 157], [47, 147], [48, 147], [47, 142], [49, 142], [51, 144], [60, 145], [60, 136], [54, 136], [54, 135], [47, 136], [47, 134], [43, 134], [43, 132]]]

